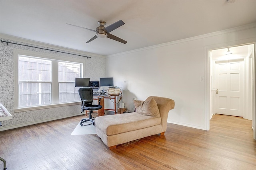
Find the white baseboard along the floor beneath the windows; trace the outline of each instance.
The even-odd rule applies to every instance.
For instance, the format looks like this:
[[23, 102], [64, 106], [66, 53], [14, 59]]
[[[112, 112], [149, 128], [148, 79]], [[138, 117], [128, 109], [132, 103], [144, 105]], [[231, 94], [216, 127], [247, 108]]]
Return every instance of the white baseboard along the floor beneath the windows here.
[[63, 115], [63, 116], [58, 116], [58, 117], [53, 117], [50, 119], [43, 119], [43, 120], [38, 120], [38, 121], [31, 121], [31, 122], [27, 122], [27, 123], [21, 123], [21, 124], [17, 124], [17, 125], [10, 125], [10, 126], [6, 126], [6, 127], [0, 127], [0, 131], [6, 131], [6, 130], [10, 130], [10, 129], [15, 129], [18, 127], [24, 127], [24, 126], [29, 126], [29, 125], [35, 125], [38, 123], [44, 123], [47, 121], [53, 121], [53, 120], [58, 120], [58, 119], [63, 119], [63, 118], [67, 118], [67, 117], [73, 117], [73, 116], [78, 116], [78, 115], [84, 115], [85, 113], [75, 113], [75, 114], [71, 114], [71, 115]]

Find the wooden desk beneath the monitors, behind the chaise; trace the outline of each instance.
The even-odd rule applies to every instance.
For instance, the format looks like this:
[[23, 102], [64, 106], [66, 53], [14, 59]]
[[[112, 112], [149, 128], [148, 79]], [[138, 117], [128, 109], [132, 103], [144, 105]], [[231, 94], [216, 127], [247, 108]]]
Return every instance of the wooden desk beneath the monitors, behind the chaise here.
[[[100, 105], [102, 106], [102, 109], [98, 110], [98, 116], [102, 116], [105, 114], [105, 110], [111, 110], [114, 111], [115, 114], [117, 114], [117, 110], [116, 110], [116, 99], [117, 97], [122, 97], [122, 95], [120, 96], [108, 96], [108, 95], [99, 95], [99, 96], [93, 96], [93, 100], [97, 100], [99, 102], [99, 98], [101, 98], [100, 100]], [[114, 99], [114, 109], [107, 109], [105, 108], [105, 98], [108, 98], [110, 100]], [[102, 112], [102, 110], [104, 110], [104, 112]], [[87, 116], [87, 111], [86, 111], [86, 116]]]

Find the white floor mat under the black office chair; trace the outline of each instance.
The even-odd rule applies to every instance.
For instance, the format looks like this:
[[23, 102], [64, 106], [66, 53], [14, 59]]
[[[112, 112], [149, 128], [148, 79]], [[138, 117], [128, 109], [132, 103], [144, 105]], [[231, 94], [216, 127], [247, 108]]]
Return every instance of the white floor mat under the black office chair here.
[[[88, 122], [88, 124], [90, 123]], [[86, 122], [84, 122], [83, 125], [86, 125]], [[74, 131], [71, 133], [71, 135], [90, 135], [90, 134], [96, 134], [95, 126], [93, 126], [92, 124], [81, 126], [80, 122], [78, 123]]]

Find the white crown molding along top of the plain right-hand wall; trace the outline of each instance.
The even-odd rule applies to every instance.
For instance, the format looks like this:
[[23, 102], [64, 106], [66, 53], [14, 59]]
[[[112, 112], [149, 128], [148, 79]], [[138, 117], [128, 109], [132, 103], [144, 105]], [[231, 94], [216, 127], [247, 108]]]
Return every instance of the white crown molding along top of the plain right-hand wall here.
[[217, 35], [223, 35], [223, 34], [232, 33], [232, 32], [236, 32], [236, 31], [251, 29], [251, 28], [256, 28], [256, 22], [250, 23], [250, 24], [247, 24], [247, 25], [242, 25], [242, 26], [239, 26], [239, 27], [230, 28], [230, 29], [224, 29], [222, 31], [216, 31], [216, 32], [207, 33], [207, 34], [203, 34], [203, 35], [198, 35], [198, 36], [195, 36], [195, 37], [180, 39], [180, 40], [177, 40], [177, 41], [171, 41], [171, 42], [168, 42], [168, 43], [162, 43], [162, 44], [158, 44], [158, 45], [152, 45], [152, 46], [149, 46], [149, 47], [144, 47], [144, 48], [140, 48], [140, 49], [136, 49], [136, 50], [126, 51], [126, 52], [123, 52], [123, 53], [108, 55], [108, 56], [106, 56], [106, 58], [108, 58], [108, 57], [117, 57], [117, 56], [120, 56], [120, 55], [125, 55], [125, 54], [129, 54], [129, 53], [135, 53], [135, 52], [138, 52], [138, 51], [144, 51], [144, 50], [148, 50], [148, 49], [164, 47], [164, 46], [168, 46], [168, 45], [186, 43], [188, 41], [194, 41], [194, 40], [198, 40], [198, 39], [214, 37], [214, 36], [217, 36]]

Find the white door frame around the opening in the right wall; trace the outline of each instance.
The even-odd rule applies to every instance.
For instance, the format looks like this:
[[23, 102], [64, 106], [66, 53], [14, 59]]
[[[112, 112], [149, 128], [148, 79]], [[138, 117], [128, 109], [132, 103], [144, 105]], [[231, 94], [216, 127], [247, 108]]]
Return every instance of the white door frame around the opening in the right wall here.
[[[253, 42], [253, 43], [252, 43]], [[204, 47], [204, 130], [210, 130], [210, 109], [212, 107], [211, 104], [211, 93], [212, 93], [212, 87], [211, 87], [211, 75], [210, 75], [210, 66], [211, 66], [211, 60], [210, 60], [210, 51], [215, 49], [224, 49], [227, 47], [235, 47], [235, 46], [241, 46], [241, 45], [253, 45], [254, 51], [252, 54], [252, 129], [253, 129], [253, 137], [254, 140], [256, 140], [256, 61], [255, 61], [255, 54], [256, 54], [256, 42], [255, 39], [244, 39], [241, 41], [236, 42], [229, 42], [229, 43], [223, 43], [223, 44], [216, 44], [216, 45], [210, 45]]]

